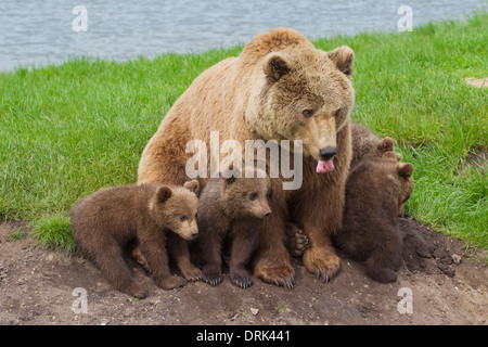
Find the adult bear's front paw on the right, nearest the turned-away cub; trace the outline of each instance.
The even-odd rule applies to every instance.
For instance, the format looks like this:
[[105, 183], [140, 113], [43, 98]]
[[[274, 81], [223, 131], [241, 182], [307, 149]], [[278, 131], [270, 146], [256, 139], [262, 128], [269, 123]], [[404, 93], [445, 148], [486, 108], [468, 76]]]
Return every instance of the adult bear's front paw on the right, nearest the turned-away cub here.
[[323, 282], [329, 282], [338, 271], [341, 259], [326, 247], [310, 247], [305, 249], [304, 266], [308, 272], [317, 275]]

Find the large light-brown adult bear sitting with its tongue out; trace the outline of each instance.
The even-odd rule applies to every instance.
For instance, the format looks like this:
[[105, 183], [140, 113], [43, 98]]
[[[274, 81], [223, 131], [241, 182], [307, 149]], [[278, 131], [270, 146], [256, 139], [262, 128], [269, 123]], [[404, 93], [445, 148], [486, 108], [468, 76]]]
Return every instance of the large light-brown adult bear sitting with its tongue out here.
[[324, 52], [293, 29], [257, 35], [239, 56], [202, 73], [174, 104], [142, 153], [139, 183], [182, 184], [187, 144], [204, 141], [210, 162], [210, 131], [219, 131], [220, 144], [236, 140], [242, 149], [245, 140], [303, 140], [303, 184], [283, 190], [281, 174], [271, 178], [273, 213], [259, 228], [253, 269], [265, 282], [295, 284], [284, 244], [292, 221], [310, 239], [306, 269], [328, 281], [339, 268], [331, 237], [342, 224], [351, 156], [352, 62], [348, 47]]

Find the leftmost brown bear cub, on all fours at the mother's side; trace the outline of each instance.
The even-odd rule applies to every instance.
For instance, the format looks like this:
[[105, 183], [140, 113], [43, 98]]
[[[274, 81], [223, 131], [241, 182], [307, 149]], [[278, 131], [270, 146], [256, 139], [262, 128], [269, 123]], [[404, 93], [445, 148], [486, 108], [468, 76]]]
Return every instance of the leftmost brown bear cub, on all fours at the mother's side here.
[[[75, 243], [123, 293], [138, 298], [147, 294], [132, 279], [124, 259], [128, 245], [136, 245], [156, 285], [164, 290], [182, 286], [184, 280], [169, 272], [166, 244], [170, 245], [171, 237], [196, 237], [198, 188], [198, 181], [194, 180], [184, 187], [141, 184], [102, 189], [70, 209]], [[168, 248], [171, 253], [171, 247]], [[191, 264], [179, 261], [178, 266], [183, 275], [194, 270]]]

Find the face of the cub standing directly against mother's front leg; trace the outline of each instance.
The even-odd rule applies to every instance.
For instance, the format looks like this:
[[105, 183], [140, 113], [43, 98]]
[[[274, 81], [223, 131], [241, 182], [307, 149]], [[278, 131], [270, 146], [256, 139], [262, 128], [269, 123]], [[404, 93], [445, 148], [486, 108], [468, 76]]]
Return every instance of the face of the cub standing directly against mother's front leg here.
[[268, 204], [269, 178], [229, 178], [223, 180], [224, 210], [230, 217], [254, 216], [264, 219], [271, 215]]

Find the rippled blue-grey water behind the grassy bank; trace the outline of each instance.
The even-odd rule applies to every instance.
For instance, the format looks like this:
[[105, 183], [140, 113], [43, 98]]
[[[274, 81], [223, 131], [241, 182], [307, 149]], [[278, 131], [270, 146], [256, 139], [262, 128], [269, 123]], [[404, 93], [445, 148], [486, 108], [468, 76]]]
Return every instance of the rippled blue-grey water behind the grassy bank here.
[[[400, 5], [413, 30], [431, 20], [462, 18], [483, 0], [0, 0], [0, 70], [61, 63], [77, 55], [128, 60], [200, 52], [243, 43], [270, 27], [293, 27], [313, 39], [398, 30]], [[74, 31], [87, 10], [87, 31]], [[78, 26], [76, 26], [78, 27]]]

